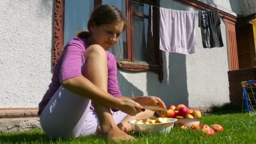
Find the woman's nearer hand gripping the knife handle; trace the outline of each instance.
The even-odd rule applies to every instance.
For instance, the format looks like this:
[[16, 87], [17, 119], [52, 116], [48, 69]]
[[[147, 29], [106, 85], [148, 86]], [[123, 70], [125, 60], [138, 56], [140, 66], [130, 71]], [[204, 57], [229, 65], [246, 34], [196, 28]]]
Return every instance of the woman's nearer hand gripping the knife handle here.
[[134, 116], [139, 112], [144, 112], [145, 108], [142, 107], [139, 103], [131, 99], [120, 99], [120, 106], [118, 109], [122, 112], [127, 113], [128, 115]]

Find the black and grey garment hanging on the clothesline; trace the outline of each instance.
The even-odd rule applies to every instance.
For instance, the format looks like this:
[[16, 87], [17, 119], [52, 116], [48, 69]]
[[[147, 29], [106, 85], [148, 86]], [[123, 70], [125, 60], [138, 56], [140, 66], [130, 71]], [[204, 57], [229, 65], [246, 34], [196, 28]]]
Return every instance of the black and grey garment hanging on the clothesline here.
[[203, 48], [223, 47], [219, 11], [200, 11], [198, 27], [201, 28]]

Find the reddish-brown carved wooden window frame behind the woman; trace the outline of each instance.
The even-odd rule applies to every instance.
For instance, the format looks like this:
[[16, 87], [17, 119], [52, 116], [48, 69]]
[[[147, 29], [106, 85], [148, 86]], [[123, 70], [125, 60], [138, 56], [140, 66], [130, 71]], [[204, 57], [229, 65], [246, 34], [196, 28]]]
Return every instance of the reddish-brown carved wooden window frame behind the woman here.
[[[160, 7], [160, 0], [150, 0], [155, 3], [149, 3], [149, 0], [136, 0], [139, 3], [146, 3]], [[158, 74], [160, 82], [163, 80], [163, 57], [159, 48], [159, 35], [153, 35], [154, 39], [154, 64], [146, 62], [133, 61], [133, 37], [132, 37], [132, 11], [131, 1], [126, 0], [126, 17], [128, 20], [127, 28], [127, 60], [117, 59], [117, 67], [127, 71], [139, 72], [139, 71], [152, 71]], [[102, 0], [94, 0], [94, 7], [102, 5]], [[58, 61], [62, 48], [64, 47], [64, 13], [65, 13], [65, 0], [55, 0], [54, 3], [54, 28], [53, 28], [53, 65]], [[159, 20], [160, 11], [159, 8], [153, 7], [153, 33], [159, 33]]]

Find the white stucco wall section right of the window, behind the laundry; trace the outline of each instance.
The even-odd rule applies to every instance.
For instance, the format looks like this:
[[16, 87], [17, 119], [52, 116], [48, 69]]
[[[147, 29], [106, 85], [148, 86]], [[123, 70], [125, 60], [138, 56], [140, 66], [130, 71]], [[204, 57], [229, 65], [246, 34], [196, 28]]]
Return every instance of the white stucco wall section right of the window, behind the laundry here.
[[[171, 0], [161, 0], [161, 7], [195, 11]], [[198, 25], [198, 17], [196, 19]], [[159, 96], [165, 104], [186, 104], [209, 107], [229, 102], [226, 27], [221, 21], [222, 48], [203, 48], [200, 28], [196, 28], [195, 53], [163, 53], [164, 80], [159, 82], [153, 72], [119, 70], [118, 80], [124, 96]]]

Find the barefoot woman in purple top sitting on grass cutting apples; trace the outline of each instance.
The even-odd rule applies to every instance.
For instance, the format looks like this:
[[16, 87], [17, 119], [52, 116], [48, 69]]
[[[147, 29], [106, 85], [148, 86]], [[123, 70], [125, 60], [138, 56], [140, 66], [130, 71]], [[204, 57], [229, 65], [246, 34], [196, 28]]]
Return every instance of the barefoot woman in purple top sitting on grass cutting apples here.
[[88, 32], [79, 32], [67, 43], [39, 104], [47, 136], [66, 139], [98, 132], [103, 139], [134, 139], [125, 133], [132, 130], [127, 122], [154, 115], [141, 105], [165, 108], [155, 96], [121, 96], [115, 57], [107, 50], [125, 28], [125, 17], [118, 9], [102, 5], [91, 14]]

